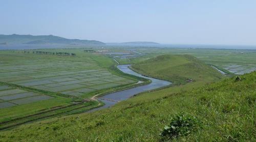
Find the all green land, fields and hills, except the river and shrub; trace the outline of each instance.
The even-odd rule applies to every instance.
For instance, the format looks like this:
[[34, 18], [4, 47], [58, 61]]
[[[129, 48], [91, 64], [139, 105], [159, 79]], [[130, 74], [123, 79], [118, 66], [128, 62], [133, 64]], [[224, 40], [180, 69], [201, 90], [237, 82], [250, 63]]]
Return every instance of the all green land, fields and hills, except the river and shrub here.
[[[106, 52], [95, 48], [95, 53], [83, 50], [40, 50], [76, 56], [32, 53], [37, 50], [0, 52], [1, 140], [255, 140], [251, 127], [255, 72], [238, 82], [232, 77], [232, 73], [254, 70], [255, 51], [143, 47], [108, 48]], [[132, 64], [140, 74], [173, 84], [140, 93], [109, 109], [78, 114], [103, 105], [91, 99], [95, 95], [150, 83], [121, 73], [115, 67], [118, 62]], [[144, 83], [136, 84], [138, 80]], [[164, 126], [182, 112], [184, 117], [197, 119], [190, 134], [160, 136]]]

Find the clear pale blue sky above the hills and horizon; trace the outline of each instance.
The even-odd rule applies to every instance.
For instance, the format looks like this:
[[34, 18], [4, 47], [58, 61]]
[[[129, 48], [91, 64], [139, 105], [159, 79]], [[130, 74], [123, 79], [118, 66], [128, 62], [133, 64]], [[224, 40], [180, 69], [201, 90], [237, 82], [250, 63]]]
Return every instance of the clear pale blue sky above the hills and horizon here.
[[0, 0], [0, 34], [256, 45], [255, 0]]

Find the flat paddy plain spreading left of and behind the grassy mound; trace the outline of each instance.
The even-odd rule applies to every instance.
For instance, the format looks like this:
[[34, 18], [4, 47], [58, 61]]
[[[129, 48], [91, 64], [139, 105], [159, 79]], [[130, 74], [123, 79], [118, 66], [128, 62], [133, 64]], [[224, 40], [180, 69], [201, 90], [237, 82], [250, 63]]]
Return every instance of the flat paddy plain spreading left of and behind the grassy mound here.
[[[254, 50], [143, 47], [106, 47], [102, 50], [101, 48], [95, 47], [94, 51], [95, 53], [84, 52], [84, 49], [1, 51], [0, 81], [3, 83], [2, 88], [4, 93], [6, 91], [5, 87], [11, 87], [14, 91], [15, 89], [25, 89], [27, 92], [14, 92], [14, 94], [5, 93], [9, 96], [9, 99], [13, 98], [13, 100], [8, 100], [6, 96], [4, 96], [3, 99], [0, 98], [2, 107], [0, 112], [4, 112], [5, 110], [12, 111], [14, 109], [18, 110], [18, 108], [21, 108], [22, 106], [33, 105], [34, 107], [34, 109], [25, 112], [16, 112], [16, 116], [14, 114], [11, 114], [11, 117], [8, 115], [2, 116], [1, 119], [10, 120], [18, 115], [34, 114], [42, 109], [51, 109], [51, 107], [55, 106], [69, 106], [76, 99], [90, 99], [96, 94], [102, 95], [106, 92], [116, 91], [127, 85], [132, 87], [132, 84], [136, 83], [137, 79], [117, 72], [113, 67], [113, 65], [117, 63], [107, 56], [115, 58], [121, 64], [137, 64], [141, 61], [146, 61], [152, 57], [157, 57], [163, 54], [188, 54], [197, 57], [197, 59], [206, 64], [214, 65], [229, 74], [252, 72], [256, 67], [256, 62], [254, 60], [256, 52]], [[73, 53], [76, 56], [57, 56], [56, 54], [42, 55], [33, 53]], [[184, 63], [182, 62], [183, 60], [177, 60], [175, 63], [179, 64], [179, 66], [187, 65], [187, 63], [189, 63], [188, 60], [190, 59], [184, 60]], [[149, 64], [151, 64], [150, 61]], [[158, 69], [161, 71], [159, 67], [146, 69], [149, 64], [137, 64], [134, 67], [135, 69], [137, 67], [137, 72], [142, 73], [143, 71], [147, 75], [150, 75], [147, 70], [153, 72], [154, 69]], [[168, 61], [162, 62], [162, 64], [168, 64]], [[154, 66], [157, 65], [158, 62], [156, 62]], [[175, 67], [175, 64], [173, 65]], [[209, 69], [210, 68], [207, 70]], [[164, 68], [162, 68], [162, 70], [164, 70]], [[200, 83], [200, 80], [202, 80], [202, 77], [200, 78], [200, 75], [198, 75], [198, 73], [202, 73], [202, 70], [198, 70], [195, 75], [184, 75], [182, 77], [177, 76], [181, 73], [177, 68], [170, 68], [169, 70], [173, 70], [172, 75], [170, 75], [170, 72], [168, 71], [165, 75], [158, 74], [157, 76], [153, 76], [174, 81], [174, 84], [184, 84], [186, 83], [187, 78], [193, 78], [197, 83]], [[180, 68], [180, 70], [184, 69]], [[211, 75], [206, 76], [211, 77]], [[202, 81], [207, 82], [207, 80]], [[20, 87], [25, 88], [22, 89]], [[24, 104], [20, 101], [24, 102]], [[42, 107], [39, 107], [39, 104], [36, 103], [36, 101], [39, 101]], [[95, 105], [97, 105], [97, 103]]]

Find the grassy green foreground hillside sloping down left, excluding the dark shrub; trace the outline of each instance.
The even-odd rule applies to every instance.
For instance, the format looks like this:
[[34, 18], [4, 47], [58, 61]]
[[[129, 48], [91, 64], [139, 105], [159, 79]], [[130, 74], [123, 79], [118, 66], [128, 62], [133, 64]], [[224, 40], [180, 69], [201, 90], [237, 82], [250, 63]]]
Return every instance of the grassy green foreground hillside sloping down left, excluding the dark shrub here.
[[[111, 109], [55, 118], [2, 131], [0, 139], [158, 141], [163, 140], [159, 134], [164, 126], [172, 122], [176, 114], [183, 112], [185, 116], [195, 117], [197, 123], [193, 131], [188, 135], [174, 137], [176, 140], [255, 141], [256, 72], [244, 75], [241, 79], [236, 81], [233, 77], [178, 93], [169, 91], [175, 87], [146, 92]], [[167, 94], [161, 97], [164, 91]], [[154, 99], [145, 99], [152, 95]], [[143, 101], [137, 101], [140, 96], [143, 96]]]

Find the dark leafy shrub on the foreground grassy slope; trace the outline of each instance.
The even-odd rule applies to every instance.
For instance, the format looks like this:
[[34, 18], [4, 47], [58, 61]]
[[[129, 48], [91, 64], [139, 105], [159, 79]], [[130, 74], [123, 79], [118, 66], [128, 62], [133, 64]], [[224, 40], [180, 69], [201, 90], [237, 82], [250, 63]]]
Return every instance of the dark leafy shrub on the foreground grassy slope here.
[[186, 136], [195, 130], [198, 124], [195, 117], [180, 113], [172, 118], [168, 126], [164, 127], [161, 136], [164, 138]]

